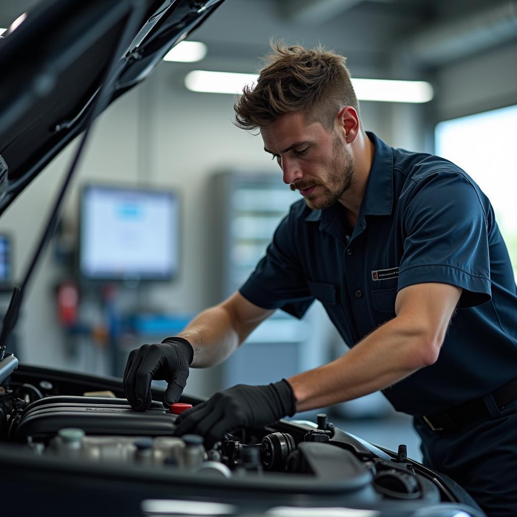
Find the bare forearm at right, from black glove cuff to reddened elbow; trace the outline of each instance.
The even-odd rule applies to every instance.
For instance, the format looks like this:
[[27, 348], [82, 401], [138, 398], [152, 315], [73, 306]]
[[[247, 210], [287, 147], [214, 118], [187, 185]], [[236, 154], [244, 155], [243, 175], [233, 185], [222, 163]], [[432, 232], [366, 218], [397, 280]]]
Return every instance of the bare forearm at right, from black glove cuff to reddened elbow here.
[[297, 410], [325, 407], [386, 388], [432, 363], [429, 348], [420, 329], [394, 318], [335, 361], [287, 379]]

